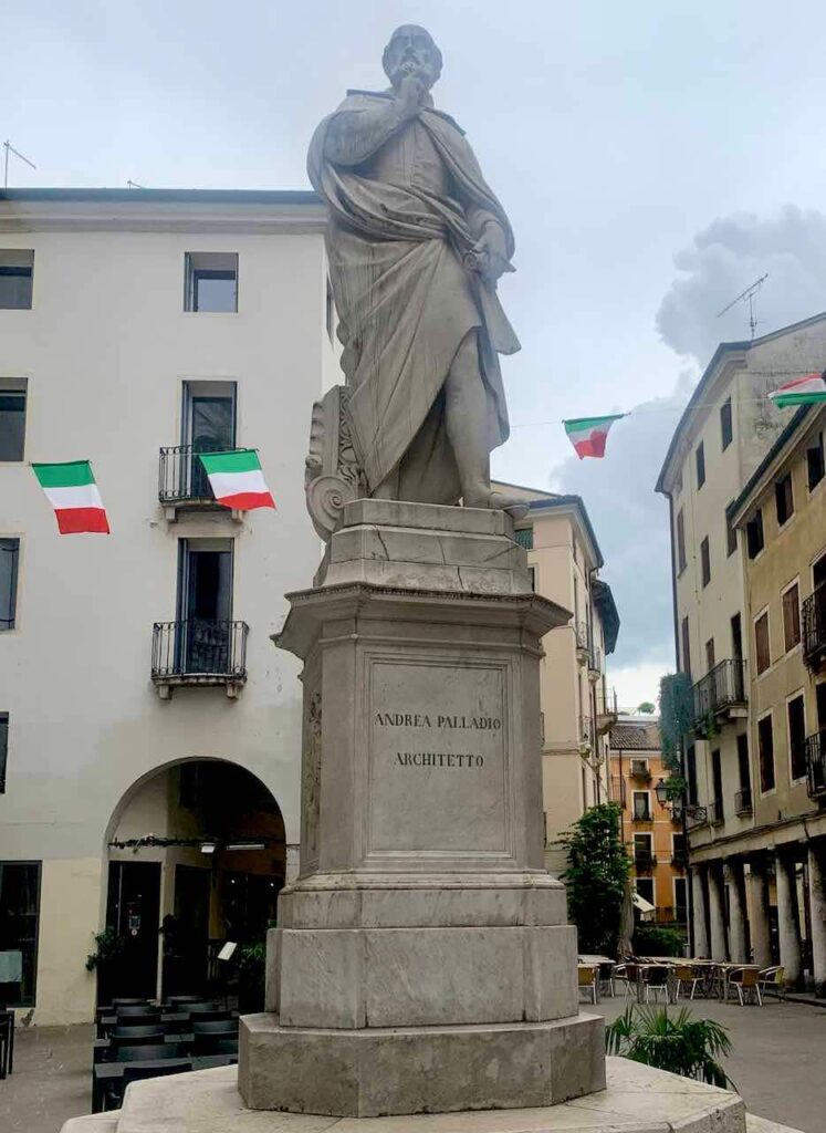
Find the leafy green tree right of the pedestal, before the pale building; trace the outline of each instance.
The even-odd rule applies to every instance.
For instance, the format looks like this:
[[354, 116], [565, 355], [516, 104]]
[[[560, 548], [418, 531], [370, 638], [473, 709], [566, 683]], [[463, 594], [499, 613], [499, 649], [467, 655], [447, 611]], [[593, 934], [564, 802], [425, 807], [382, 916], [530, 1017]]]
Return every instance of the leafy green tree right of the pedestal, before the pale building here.
[[630, 862], [620, 836], [615, 802], [591, 807], [562, 836], [568, 852], [563, 880], [568, 911], [579, 930], [579, 951], [616, 955]]

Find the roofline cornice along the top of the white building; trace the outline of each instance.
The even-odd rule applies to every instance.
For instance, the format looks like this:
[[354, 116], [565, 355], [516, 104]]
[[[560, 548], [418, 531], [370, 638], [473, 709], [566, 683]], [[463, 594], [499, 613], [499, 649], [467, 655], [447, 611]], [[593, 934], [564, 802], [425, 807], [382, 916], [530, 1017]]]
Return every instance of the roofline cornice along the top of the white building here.
[[0, 232], [322, 232], [309, 190], [3, 189]]

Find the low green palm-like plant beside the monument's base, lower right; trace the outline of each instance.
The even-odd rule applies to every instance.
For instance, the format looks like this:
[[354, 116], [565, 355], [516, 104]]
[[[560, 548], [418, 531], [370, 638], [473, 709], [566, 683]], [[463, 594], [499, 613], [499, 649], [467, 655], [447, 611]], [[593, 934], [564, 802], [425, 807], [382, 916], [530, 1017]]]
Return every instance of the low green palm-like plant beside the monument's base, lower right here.
[[725, 1089], [730, 1084], [719, 1058], [731, 1054], [725, 1026], [710, 1019], [695, 1019], [688, 1007], [675, 1015], [654, 1006], [631, 1006], [605, 1028], [610, 1055], [695, 1077]]

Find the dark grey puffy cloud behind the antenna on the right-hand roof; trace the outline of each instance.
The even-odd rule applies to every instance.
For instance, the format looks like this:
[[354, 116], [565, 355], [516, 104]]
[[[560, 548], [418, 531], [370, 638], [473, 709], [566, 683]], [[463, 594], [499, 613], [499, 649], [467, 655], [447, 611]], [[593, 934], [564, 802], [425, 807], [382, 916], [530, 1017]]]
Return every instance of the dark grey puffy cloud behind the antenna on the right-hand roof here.
[[826, 216], [794, 205], [770, 218], [724, 216], [698, 232], [674, 265], [681, 275], [659, 306], [657, 330], [679, 355], [705, 366], [718, 342], [750, 337], [746, 304], [717, 316], [766, 272], [756, 300], [758, 335], [826, 308]]

